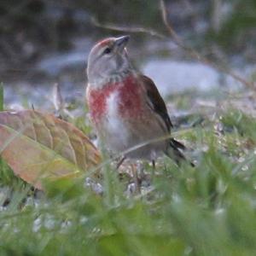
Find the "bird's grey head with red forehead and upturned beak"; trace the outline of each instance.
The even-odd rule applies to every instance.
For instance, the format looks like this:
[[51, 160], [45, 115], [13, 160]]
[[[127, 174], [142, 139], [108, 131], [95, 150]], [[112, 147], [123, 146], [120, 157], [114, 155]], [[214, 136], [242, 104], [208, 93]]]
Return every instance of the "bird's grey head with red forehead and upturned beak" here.
[[129, 70], [130, 61], [125, 49], [129, 38], [106, 38], [90, 50], [87, 65], [89, 83], [97, 84]]

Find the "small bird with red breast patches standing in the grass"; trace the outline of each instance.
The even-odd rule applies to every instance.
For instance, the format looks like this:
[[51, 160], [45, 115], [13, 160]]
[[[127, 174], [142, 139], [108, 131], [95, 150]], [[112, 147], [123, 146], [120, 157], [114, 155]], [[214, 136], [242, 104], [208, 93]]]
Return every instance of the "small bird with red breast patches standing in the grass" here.
[[129, 40], [105, 38], [90, 50], [86, 101], [96, 135], [111, 154], [124, 152], [121, 162], [151, 160], [154, 166], [166, 154], [180, 165], [185, 146], [171, 137], [172, 122], [154, 81], [131, 64]]

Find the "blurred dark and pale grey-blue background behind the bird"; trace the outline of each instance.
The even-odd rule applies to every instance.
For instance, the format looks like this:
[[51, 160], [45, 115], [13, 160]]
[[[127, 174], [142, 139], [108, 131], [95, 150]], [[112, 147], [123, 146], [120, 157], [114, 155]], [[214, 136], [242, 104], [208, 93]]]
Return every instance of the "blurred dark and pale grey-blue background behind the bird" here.
[[[185, 44], [242, 78], [256, 78], [255, 0], [166, 0], [168, 20]], [[101, 24], [102, 26], [99, 26]], [[143, 28], [121, 32], [104, 26]], [[95, 42], [131, 34], [134, 65], [168, 98], [177, 94], [224, 96], [245, 87], [172, 42], [156, 0], [1, 0], [0, 81], [10, 108], [53, 108], [58, 83], [67, 102], [83, 100], [87, 56]]]

